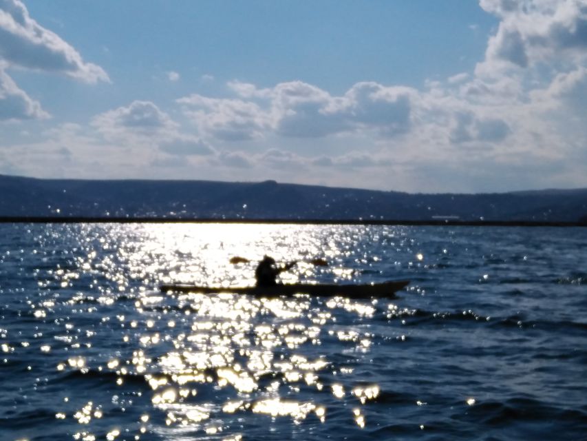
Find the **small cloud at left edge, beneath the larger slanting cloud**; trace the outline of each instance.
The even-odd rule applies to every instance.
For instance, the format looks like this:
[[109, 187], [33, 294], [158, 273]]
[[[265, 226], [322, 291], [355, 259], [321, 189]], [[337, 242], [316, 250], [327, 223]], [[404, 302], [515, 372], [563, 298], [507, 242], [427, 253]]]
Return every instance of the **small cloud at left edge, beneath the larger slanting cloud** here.
[[41, 104], [19, 89], [0, 64], [0, 121], [48, 117]]

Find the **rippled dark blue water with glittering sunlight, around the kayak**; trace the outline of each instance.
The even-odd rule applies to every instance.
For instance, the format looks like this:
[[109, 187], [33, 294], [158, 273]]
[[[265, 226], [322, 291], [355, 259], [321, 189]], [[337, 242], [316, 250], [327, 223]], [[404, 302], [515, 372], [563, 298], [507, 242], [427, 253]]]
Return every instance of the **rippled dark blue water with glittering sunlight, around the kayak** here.
[[[0, 225], [2, 440], [587, 439], [587, 229]], [[166, 295], [408, 278], [395, 299]], [[313, 267], [325, 258], [328, 267]]]

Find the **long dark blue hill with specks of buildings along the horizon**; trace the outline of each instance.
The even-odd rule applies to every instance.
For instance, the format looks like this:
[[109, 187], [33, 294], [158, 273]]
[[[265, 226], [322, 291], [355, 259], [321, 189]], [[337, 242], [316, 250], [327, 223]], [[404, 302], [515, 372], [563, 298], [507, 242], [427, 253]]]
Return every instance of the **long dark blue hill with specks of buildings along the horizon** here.
[[0, 175], [0, 216], [577, 222], [587, 189], [407, 194], [316, 185]]

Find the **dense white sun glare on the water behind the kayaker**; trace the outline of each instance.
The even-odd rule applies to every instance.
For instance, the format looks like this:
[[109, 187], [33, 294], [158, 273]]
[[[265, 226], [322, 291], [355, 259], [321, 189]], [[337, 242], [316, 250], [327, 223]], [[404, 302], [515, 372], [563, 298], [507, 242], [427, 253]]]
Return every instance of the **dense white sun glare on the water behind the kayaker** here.
[[[311, 278], [316, 268], [309, 261], [323, 256], [336, 257], [339, 249], [335, 241], [324, 249], [319, 235], [307, 234], [308, 227], [299, 225], [252, 225], [252, 224], [200, 224], [195, 228], [189, 224], [166, 224], [164, 230], [158, 225], [137, 225], [145, 240], [140, 248], [127, 258], [141, 262], [137, 274], [154, 274], [160, 268], [156, 260], [169, 265], [169, 274], [160, 283], [197, 283], [206, 286], [246, 286], [254, 283], [255, 263], [265, 254], [277, 262], [298, 260], [297, 273], [281, 274], [284, 283], [294, 283], [303, 274]], [[278, 240], [275, 240], [277, 236]], [[144, 256], [156, 257], [145, 267]], [[232, 265], [232, 257], [242, 257], [250, 263]], [[352, 274], [343, 271], [344, 277]]]

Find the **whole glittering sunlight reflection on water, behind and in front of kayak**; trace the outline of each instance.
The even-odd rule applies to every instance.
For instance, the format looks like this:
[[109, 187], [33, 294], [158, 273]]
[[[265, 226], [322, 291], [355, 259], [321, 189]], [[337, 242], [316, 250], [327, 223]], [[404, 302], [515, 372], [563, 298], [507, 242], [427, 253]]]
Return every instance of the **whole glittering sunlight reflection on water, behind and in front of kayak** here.
[[[107, 228], [104, 233], [102, 229]], [[378, 385], [366, 386], [354, 373], [352, 361], [333, 362], [337, 358], [322, 345], [334, 341], [343, 351], [352, 349], [361, 356], [371, 351], [377, 340], [355, 322], [381, 314], [375, 302], [308, 295], [253, 298], [226, 292], [162, 295], [156, 289], [160, 283], [253, 285], [256, 262], [264, 254], [279, 263], [299, 260], [281, 277], [284, 283], [354, 280], [357, 270], [352, 266], [357, 261], [363, 265], [369, 257], [364, 252], [356, 258], [353, 254], [354, 245], [367, 232], [364, 227], [179, 223], [100, 226], [96, 231], [100, 233], [94, 244], [98, 252], [84, 250], [77, 261], [79, 272], [61, 269], [52, 276], [58, 286], [81, 276], [91, 278], [98, 295], [93, 298], [78, 291], [67, 304], [106, 309], [104, 327], [120, 329], [116, 341], [124, 350], [107, 353], [98, 371], [114, 375], [120, 389], [133, 387], [134, 378], [145, 380], [146, 391], [136, 392], [136, 399], [144, 393], [153, 415], [149, 418], [142, 412], [138, 417], [140, 433], [164, 421], [167, 427], [160, 424], [152, 430], [167, 433], [164, 430], [191, 427], [217, 439], [213, 435], [220, 436], [231, 424], [239, 427], [235, 421], [242, 413], [321, 424], [327, 410], [331, 411], [321, 400], [328, 406], [359, 405], [352, 414], [346, 413], [359, 427], [365, 426], [361, 409], [379, 396]], [[88, 235], [91, 232], [88, 227]], [[250, 262], [233, 265], [230, 259], [235, 256]], [[316, 258], [326, 258], [328, 267], [312, 265]], [[54, 307], [54, 302], [45, 302], [32, 314], [41, 320]], [[92, 312], [89, 308], [85, 311]], [[396, 306], [385, 304], [383, 309], [383, 318], [401, 314]], [[341, 316], [343, 320], [338, 320]], [[56, 341], [69, 345], [71, 352], [57, 369], [87, 373], [94, 360], [74, 349], [91, 344], [81, 342], [78, 324], [67, 320], [65, 332]], [[0, 349], [13, 350], [6, 344]], [[41, 351], [44, 356], [55, 349], [47, 346]], [[107, 416], [92, 402], [76, 409], [74, 418], [85, 429], [103, 412]], [[162, 418], [155, 418], [155, 413]], [[68, 417], [57, 415], [72, 417], [71, 412]], [[89, 431], [79, 432], [77, 439], [91, 436]], [[116, 439], [119, 433], [111, 429], [108, 436]], [[241, 438], [234, 433], [222, 435], [224, 440]]]

